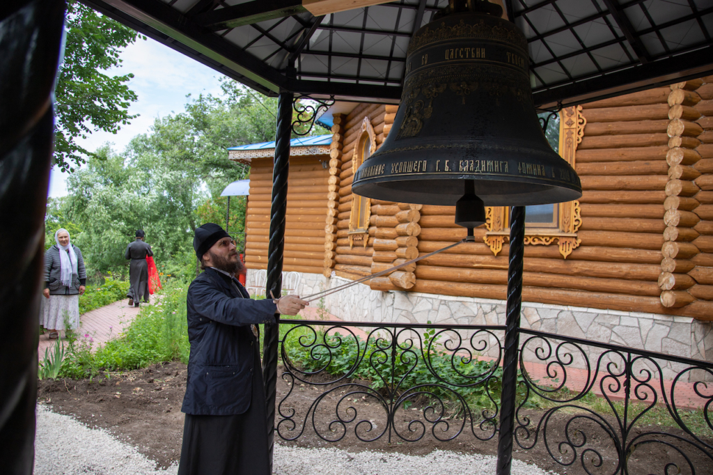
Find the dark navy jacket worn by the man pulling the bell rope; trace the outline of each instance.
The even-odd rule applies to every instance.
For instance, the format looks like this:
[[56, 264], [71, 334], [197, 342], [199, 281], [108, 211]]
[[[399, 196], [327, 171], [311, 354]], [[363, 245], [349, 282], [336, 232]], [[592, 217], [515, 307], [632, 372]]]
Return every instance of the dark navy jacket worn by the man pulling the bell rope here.
[[277, 305], [252, 300], [230, 276], [208, 268], [188, 287], [188, 382], [181, 410], [227, 416], [250, 407], [257, 340], [251, 324], [274, 322]]

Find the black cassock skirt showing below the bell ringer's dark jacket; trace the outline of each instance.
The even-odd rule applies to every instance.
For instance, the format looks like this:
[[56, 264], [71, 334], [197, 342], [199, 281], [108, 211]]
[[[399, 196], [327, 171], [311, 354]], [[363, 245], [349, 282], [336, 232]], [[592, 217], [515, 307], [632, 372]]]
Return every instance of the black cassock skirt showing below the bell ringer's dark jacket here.
[[178, 475], [270, 475], [265, 389], [257, 351], [247, 412], [185, 415]]

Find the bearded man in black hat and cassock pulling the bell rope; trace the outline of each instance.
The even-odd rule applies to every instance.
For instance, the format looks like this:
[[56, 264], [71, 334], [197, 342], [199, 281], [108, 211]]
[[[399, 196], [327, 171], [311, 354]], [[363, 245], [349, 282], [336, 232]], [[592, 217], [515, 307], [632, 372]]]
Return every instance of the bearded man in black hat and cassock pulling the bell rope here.
[[252, 300], [235, 275], [235, 242], [219, 225], [195, 230], [201, 275], [188, 287], [188, 381], [178, 475], [270, 475], [258, 342], [250, 325], [296, 315], [297, 295]]

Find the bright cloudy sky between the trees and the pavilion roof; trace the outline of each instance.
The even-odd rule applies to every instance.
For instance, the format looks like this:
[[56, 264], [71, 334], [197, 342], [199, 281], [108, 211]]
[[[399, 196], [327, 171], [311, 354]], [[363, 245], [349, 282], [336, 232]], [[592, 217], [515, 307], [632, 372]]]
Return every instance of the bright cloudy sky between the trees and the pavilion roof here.
[[[157, 117], [185, 110], [186, 95], [198, 97], [200, 93], [220, 94], [220, 74], [188, 56], [152, 39], [138, 39], [122, 53], [122, 67], [113, 74], [133, 73], [128, 86], [138, 100], [129, 107], [130, 114], [140, 114], [130, 125], [116, 133], [95, 132], [86, 141], [78, 142], [87, 150], [96, 150], [104, 143], [111, 143], [118, 152], [123, 151], [131, 138], [147, 133]], [[112, 71], [109, 71], [112, 75]], [[67, 194], [65, 179], [56, 167], [50, 175], [49, 196], [56, 198]]]

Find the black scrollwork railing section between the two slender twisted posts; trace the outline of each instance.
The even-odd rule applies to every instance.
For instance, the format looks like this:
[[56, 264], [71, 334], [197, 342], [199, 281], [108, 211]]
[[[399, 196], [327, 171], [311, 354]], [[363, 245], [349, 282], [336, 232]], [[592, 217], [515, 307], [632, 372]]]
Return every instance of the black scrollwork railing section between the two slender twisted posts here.
[[[310, 422], [329, 442], [350, 432], [359, 441], [389, 443], [394, 436], [412, 442], [426, 434], [448, 441], [466, 429], [483, 441], [496, 435], [498, 397], [491, 387], [501, 362], [501, 327], [463, 327], [466, 337], [448, 327], [369, 324], [366, 334], [356, 330], [364, 324], [332, 322], [316, 330], [320, 323], [299, 322], [281, 340], [282, 378], [289, 385], [278, 405], [282, 439], [303, 436]], [[483, 354], [491, 357], [481, 361]], [[306, 389], [317, 395], [297, 414], [291, 401]], [[483, 404], [474, 403], [473, 394]]]

